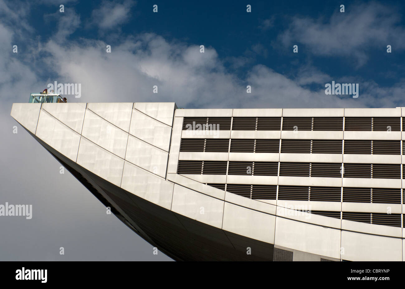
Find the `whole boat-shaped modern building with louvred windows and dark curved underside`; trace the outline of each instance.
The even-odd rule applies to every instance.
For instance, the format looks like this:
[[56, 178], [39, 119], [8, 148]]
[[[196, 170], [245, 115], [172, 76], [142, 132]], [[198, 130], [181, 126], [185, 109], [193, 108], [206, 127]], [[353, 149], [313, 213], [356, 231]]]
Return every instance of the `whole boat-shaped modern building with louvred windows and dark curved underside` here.
[[14, 103], [11, 116], [175, 260], [404, 259], [405, 108]]

